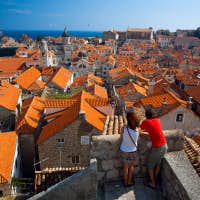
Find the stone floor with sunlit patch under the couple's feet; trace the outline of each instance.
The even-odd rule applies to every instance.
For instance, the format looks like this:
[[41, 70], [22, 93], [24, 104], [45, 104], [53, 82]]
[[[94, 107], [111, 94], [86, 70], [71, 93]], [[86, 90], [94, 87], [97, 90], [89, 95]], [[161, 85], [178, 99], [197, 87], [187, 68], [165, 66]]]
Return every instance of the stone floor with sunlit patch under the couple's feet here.
[[120, 181], [107, 183], [104, 190], [105, 200], [164, 200], [162, 192], [146, 187], [142, 178], [136, 178], [131, 187], [124, 187]]

